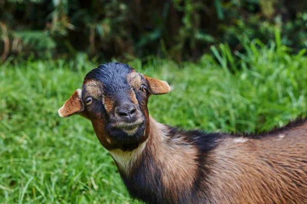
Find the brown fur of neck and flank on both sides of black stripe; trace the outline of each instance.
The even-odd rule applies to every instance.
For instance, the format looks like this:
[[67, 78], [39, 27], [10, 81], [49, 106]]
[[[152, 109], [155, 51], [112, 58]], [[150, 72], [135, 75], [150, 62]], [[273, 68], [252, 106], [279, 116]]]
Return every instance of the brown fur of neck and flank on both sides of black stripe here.
[[[196, 179], [198, 155], [192, 144], [185, 148], [170, 144], [166, 134], [166, 127], [150, 117], [144, 152], [151, 152], [155, 166], [162, 170], [168, 196], [180, 202], [180, 192], [192, 188]], [[221, 204], [307, 203], [306, 135], [306, 124], [260, 139], [226, 135], [207, 155], [207, 179], [195, 203], [204, 197]], [[180, 136], [176, 140], [184, 142]]]

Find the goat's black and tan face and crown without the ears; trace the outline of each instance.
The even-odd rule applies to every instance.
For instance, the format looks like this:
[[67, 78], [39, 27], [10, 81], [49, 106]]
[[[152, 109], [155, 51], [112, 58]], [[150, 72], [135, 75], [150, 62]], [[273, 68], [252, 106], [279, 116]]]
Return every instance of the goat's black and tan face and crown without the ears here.
[[[139, 76], [136, 80], [140, 82], [131, 83], [131, 74]], [[148, 92], [140, 90], [140, 87], [134, 84], [147, 86], [142, 74], [129, 65], [118, 62], [102, 64], [85, 76], [82, 99], [96, 97], [92, 107], [86, 107], [85, 112], [94, 120], [96, 134], [111, 141], [103, 141], [103, 145], [108, 149], [132, 150], [148, 136], [145, 131], [148, 126]], [[92, 96], [88, 96], [89, 92], [92, 92]], [[98, 94], [94, 96], [93, 93]], [[128, 115], [130, 109], [134, 112]]]

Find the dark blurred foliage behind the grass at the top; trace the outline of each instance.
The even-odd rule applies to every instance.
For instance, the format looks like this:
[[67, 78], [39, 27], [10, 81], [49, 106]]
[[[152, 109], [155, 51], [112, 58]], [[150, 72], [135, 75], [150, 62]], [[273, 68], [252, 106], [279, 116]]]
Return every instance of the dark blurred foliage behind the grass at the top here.
[[274, 40], [294, 52], [307, 45], [307, 4], [295, 0], [0, 0], [0, 57], [99, 60], [147, 56], [177, 62], [227, 43]]

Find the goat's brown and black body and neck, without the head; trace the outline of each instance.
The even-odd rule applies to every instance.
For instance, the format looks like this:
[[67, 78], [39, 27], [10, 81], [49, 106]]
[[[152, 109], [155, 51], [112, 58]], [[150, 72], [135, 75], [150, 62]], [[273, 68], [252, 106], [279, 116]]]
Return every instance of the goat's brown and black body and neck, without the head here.
[[303, 122], [238, 137], [150, 118], [141, 153], [116, 164], [130, 195], [148, 203], [307, 203], [306, 135]]

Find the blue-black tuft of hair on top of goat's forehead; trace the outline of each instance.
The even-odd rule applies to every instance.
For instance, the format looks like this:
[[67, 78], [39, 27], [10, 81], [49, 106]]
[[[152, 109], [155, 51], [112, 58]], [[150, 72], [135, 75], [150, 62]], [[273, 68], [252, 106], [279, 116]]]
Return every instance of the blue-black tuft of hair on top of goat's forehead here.
[[105, 85], [109, 83], [122, 85], [126, 82], [127, 75], [133, 71], [135, 71], [134, 68], [127, 64], [120, 62], [109, 62], [101, 64], [97, 68], [87, 73], [85, 75], [84, 82], [87, 80], [95, 80], [103, 82]]

